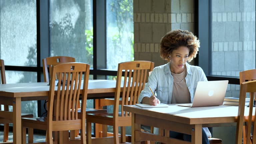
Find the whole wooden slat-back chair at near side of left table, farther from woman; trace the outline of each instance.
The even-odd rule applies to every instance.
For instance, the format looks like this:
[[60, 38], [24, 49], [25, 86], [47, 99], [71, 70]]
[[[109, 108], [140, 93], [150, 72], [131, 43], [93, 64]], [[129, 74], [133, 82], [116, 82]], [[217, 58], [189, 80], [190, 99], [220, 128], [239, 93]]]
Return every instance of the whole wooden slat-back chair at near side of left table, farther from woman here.
[[[22, 139], [23, 144], [26, 143], [26, 127], [35, 128], [47, 131], [47, 141], [52, 144], [53, 131], [67, 131], [81, 129], [81, 143], [86, 143], [85, 140], [85, 114], [86, 100], [88, 90], [90, 65], [85, 63], [64, 63], [53, 66], [51, 79], [56, 79], [58, 75], [58, 87], [55, 92], [55, 81], [50, 82], [49, 91], [49, 106], [47, 117], [38, 118], [22, 118]], [[82, 104], [81, 118], [78, 117], [79, 95], [84, 72], [84, 80], [82, 87]], [[62, 85], [60, 81], [67, 85]], [[69, 83], [70, 81], [70, 83]], [[59, 141], [62, 139], [60, 132]], [[29, 136], [30, 137], [30, 136]], [[33, 138], [29, 143], [33, 143]]]

